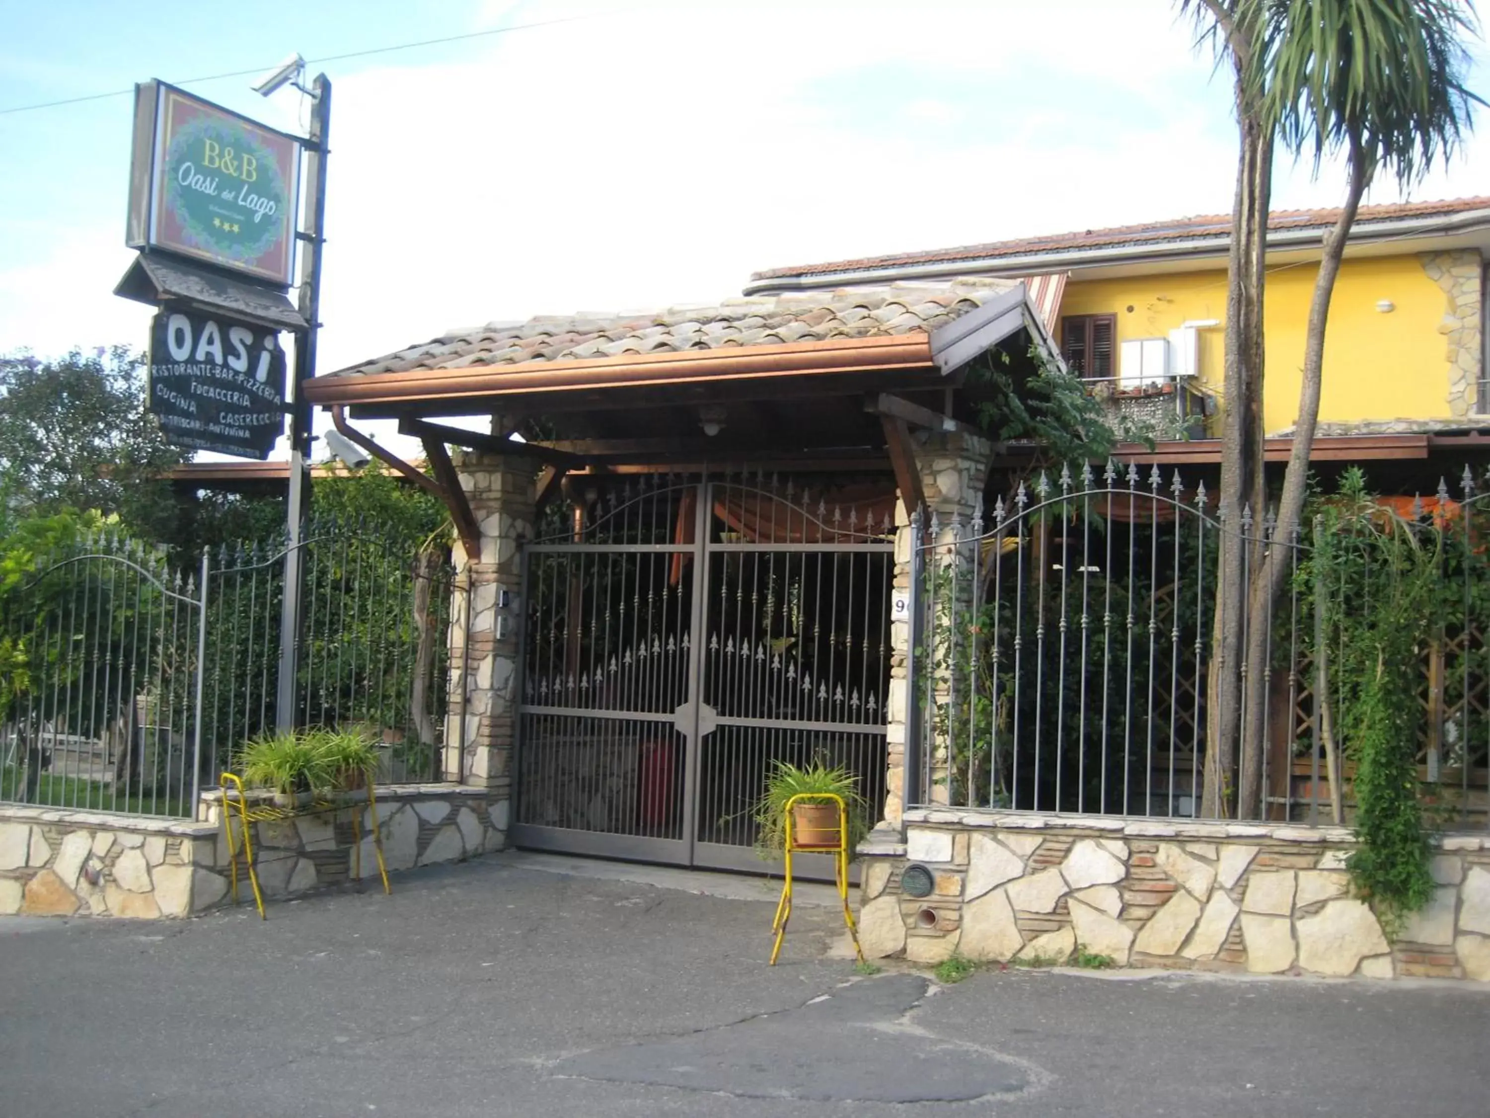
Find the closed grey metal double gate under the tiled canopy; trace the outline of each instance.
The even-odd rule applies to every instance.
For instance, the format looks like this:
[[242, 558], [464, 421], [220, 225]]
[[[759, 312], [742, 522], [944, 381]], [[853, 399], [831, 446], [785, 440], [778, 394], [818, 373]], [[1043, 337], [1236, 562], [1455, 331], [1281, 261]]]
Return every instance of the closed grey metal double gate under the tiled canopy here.
[[524, 552], [516, 842], [761, 871], [778, 760], [846, 765], [878, 808], [893, 495], [587, 481]]

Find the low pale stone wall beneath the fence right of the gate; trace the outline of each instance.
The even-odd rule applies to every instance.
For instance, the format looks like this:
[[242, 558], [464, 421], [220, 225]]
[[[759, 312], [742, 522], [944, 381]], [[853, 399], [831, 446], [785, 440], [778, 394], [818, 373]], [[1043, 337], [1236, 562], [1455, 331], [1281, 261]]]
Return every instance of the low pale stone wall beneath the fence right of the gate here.
[[[1433, 902], [1389, 944], [1350, 894], [1344, 829], [1106, 818], [904, 814], [906, 841], [863, 863], [873, 957], [1064, 963], [1080, 945], [1119, 966], [1490, 981], [1490, 835], [1445, 836]], [[910, 863], [924, 899], [901, 891]]]

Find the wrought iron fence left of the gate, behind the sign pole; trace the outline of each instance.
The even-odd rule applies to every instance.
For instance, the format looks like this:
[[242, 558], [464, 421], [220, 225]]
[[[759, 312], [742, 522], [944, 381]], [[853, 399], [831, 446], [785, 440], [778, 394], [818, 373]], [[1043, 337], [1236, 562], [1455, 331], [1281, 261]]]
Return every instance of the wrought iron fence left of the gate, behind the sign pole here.
[[[441, 777], [451, 599], [443, 546], [365, 520], [299, 547], [298, 726], [361, 724], [386, 780]], [[246, 741], [277, 723], [285, 547], [219, 547], [195, 571], [103, 534], [42, 556], [0, 596], [0, 800], [194, 814]]]

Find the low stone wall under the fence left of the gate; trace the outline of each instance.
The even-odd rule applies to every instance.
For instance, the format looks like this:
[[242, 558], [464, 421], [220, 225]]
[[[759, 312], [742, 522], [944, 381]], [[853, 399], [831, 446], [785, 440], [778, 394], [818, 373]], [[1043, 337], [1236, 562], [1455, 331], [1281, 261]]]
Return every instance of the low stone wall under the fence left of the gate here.
[[[501, 850], [507, 800], [486, 789], [399, 784], [377, 790], [389, 871], [459, 862]], [[153, 820], [57, 808], [0, 808], [0, 915], [188, 917], [228, 903], [228, 845], [219, 793], [204, 793], [201, 821]], [[371, 838], [356, 850], [355, 812], [253, 826], [255, 865], [267, 897], [377, 875]], [[237, 832], [234, 832], [237, 835]], [[241, 857], [241, 853], [240, 853]], [[240, 900], [252, 900], [240, 863]]]

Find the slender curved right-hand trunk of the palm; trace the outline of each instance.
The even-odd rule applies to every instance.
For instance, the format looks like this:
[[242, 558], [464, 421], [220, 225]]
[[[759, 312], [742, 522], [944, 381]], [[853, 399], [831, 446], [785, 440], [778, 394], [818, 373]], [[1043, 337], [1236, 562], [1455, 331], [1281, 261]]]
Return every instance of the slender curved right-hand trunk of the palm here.
[[1283, 476], [1283, 492], [1278, 498], [1277, 540], [1283, 547], [1269, 549], [1262, 562], [1253, 565], [1252, 593], [1247, 625], [1247, 665], [1255, 681], [1247, 689], [1246, 736], [1241, 750], [1241, 772], [1238, 777], [1237, 814], [1240, 818], [1255, 818], [1262, 796], [1262, 741], [1264, 711], [1268, 702], [1268, 632], [1272, 604], [1283, 575], [1290, 569], [1287, 546], [1293, 541], [1304, 511], [1304, 496], [1308, 487], [1310, 450], [1314, 446], [1314, 429], [1319, 426], [1319, 397], [1325, 374], [1325, 328], [1329, 322], [1329, 303], [1340, 276], [1340, 261], [1345, 252], [1350, 227], [1360, 209], [1360, 198], [1371, 182], [1372, 167], [1362, 151], [1359, 139], [1350, 143], [1350, 191], [1340, 210], [1340, 219], [1325, 234], [1325, 249], [1314, 280], [1314, 300], [1308, 312], [1308, 334], [1304, 341], [1304, 380], [1299, 386], [1299, 411], [1293, 425], [1293, 446], [1289, 450], [1287, 473]]

